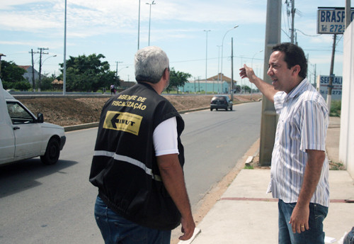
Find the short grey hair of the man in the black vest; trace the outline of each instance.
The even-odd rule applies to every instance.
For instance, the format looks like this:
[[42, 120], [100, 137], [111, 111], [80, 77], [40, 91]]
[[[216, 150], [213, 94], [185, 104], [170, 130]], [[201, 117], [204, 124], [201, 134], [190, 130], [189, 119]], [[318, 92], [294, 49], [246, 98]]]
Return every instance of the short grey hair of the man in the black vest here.
[[161, 48], [149, 46], [135, 54], [135, 79], [138, 83], [158, 83], [168, 68], [169, 58]]

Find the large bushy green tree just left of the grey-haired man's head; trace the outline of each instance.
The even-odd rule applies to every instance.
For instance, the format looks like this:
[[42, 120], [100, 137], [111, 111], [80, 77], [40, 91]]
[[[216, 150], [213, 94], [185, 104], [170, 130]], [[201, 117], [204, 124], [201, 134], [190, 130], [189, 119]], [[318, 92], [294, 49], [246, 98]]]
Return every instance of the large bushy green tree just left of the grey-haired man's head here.
[[[67, 60], [67, 90], [68, 91], [97, 91], [102, 87], [109, 87], [110, 84], [118, 86], [119, 77], [115, 72], [110, 71], [107, 61], [101, 62], [104, 55], [91, 54], [70, 56]], [[63, 67], [63, 64], [60, 64]], [[63, 70], [62, 70], [63, 71]], [[63, 75], [59, 76], [63, 79]]]

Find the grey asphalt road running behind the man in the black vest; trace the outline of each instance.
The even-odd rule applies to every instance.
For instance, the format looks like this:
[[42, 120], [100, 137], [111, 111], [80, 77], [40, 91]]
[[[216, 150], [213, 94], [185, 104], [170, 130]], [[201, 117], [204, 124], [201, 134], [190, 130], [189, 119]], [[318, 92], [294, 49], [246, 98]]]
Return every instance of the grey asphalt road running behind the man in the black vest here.
[[[183, 114], [185, 181], [193, 207], [259, 137], [261, 103]], [[0, 167], [0, 243], [103, 243], [89, 183], [96, 128], [66, 133], [56, 165]]]

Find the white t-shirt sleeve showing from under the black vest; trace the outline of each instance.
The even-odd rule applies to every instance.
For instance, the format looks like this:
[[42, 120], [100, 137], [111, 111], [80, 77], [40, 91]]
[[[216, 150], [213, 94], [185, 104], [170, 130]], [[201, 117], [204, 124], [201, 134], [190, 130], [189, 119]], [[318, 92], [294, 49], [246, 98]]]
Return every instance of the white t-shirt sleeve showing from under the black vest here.
[[172, 117], [155, 128], [152, 137], [155, 155], [179, 154], [177, 143], [177, 120]]

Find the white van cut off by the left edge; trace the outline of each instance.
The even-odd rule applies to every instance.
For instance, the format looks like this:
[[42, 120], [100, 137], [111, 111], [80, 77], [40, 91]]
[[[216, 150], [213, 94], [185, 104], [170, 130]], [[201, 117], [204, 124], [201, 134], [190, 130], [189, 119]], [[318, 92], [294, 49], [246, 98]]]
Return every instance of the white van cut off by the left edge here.
[[43, 122], [4, 90], [0, 79], [0, 165], [40, 156], [46, 165], [59, 159], [64, 128]]

